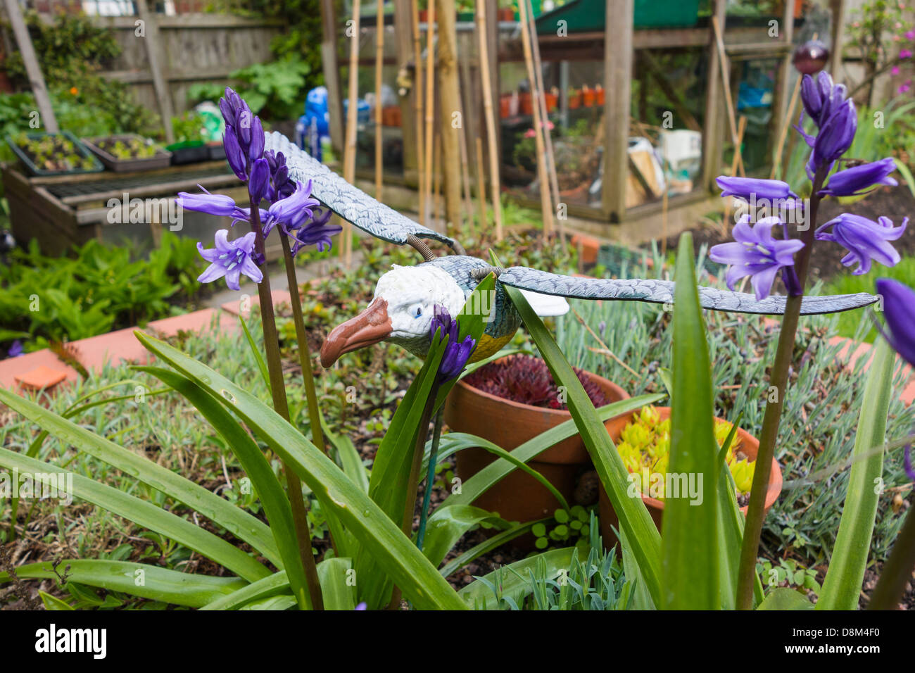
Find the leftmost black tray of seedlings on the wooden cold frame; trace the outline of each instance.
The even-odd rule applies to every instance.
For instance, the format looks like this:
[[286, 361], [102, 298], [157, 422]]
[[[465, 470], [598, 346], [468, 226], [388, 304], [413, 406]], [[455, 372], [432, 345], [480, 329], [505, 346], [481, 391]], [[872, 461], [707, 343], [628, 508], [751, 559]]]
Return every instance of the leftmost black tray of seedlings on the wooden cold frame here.
[[34, 176], [78, 175], [105, 169], [70, 131], [6, 136], [6, 144]]

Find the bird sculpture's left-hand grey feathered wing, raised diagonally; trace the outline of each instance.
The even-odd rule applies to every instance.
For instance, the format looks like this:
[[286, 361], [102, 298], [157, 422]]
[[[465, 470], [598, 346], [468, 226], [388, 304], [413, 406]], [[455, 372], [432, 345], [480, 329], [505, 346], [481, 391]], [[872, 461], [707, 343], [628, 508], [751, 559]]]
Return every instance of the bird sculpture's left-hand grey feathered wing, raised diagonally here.
[[455, 246], [453, 238], [414, 223], [410, 218], [350, 185], [330, 168], [310, 157], [306, 151], [296, 147], [283, 134], [276, 131], [264, 134], [264, 148], [282, 152], [290, 178], [303, 183], [310, 179], [311, 195], [363, 232], [400, 245], [407, 243], [407, 235], [412, 233], [417, 238], [433, 238], [451, 247]]

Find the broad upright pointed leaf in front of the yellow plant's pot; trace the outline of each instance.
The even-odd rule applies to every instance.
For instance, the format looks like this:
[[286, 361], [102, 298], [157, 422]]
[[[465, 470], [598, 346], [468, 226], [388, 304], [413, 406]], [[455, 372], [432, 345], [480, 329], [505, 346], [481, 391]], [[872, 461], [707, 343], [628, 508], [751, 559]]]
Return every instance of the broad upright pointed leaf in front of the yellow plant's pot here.
[[[679, 493], [667, 493], [664, 499], [661, 607], [718, 610], [718, 445], [712, 365], [696, 291], [693, 237], [688, 232], [680, 236], [675, 279], [671, 457], [667, 472], [673, 475], [668, 483]], [[696, 494], [690, 494], [690, 483], [699, 487]]]

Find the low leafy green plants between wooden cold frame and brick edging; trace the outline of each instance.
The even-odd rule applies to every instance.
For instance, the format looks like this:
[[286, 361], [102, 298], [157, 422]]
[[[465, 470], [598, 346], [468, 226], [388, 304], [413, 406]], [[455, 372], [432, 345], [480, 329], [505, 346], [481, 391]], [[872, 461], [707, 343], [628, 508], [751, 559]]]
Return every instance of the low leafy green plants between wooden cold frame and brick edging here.
[[172, 233], [148, 260], [132, 260], [129, 248], [97, 241], [73, 255], [42, 255], [33, 240], [0, 266], [0, 341], [27, 334], [34, 340], [27, 348], [41, 348], [84, 339], [167, 316], [174, 301], [199, 288], [197, 248]]

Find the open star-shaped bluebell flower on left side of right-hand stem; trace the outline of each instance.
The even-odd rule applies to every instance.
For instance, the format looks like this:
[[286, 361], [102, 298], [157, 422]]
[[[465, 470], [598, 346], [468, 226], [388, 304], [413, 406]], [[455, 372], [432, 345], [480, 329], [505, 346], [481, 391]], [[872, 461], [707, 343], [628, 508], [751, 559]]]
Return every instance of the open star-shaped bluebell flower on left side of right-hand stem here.
[[736, 243], [718, 244], [709, 250], [709, 259], [730, 265], [725, 277], [728, 288], [734, 289], [737, 280], [749, 276], [756, 299], [766, 299], [779, 269], [794, 265], [794, 254], [803, 242], [772, 238], [772, 227], [777, 224], [781, 224], [778, 217], [764, 217], [750, 226], [749, 215], [744, 215], [734, 226]]

